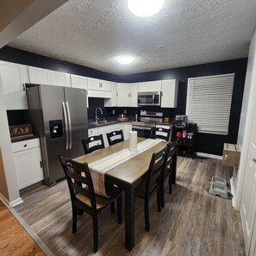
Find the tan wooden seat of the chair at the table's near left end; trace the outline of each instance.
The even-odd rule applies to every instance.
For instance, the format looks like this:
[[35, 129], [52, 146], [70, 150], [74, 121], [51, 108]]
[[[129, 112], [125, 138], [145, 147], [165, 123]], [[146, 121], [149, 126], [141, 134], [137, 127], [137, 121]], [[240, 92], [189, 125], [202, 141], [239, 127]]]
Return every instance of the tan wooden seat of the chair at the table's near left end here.
[[[97, 210], [98, 209], [102, 209], [106, 206], [109, 205], [109, 203], [111, 203], [112, 201], [115, 200], [116, 197], [119, 197], [122, 194], [122, 190], [117, 189], [116, 187], [112, 187], [111, 188], [111, 195], [109, 197], [101, 197], [99, 195], [95, 195], [96, 196], [96, 207]], [[82, 195], [82, 194], [77, 194], [76, 198], [81, 201], [82, 203], [88, 205], [89, 207], [91, 207], [91, 199], [90, 199], [90, 195], [89, 195], [89, 191], [88, 191], [88, 195]]]

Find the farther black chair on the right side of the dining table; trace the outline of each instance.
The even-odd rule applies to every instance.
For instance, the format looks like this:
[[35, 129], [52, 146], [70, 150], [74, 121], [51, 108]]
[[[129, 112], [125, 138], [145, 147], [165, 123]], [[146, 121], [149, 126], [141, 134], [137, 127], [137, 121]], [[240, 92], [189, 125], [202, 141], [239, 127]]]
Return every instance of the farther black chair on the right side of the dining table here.
[[167, 153], [165, 156], [165, 166], [162, 177], [161, 186], [161, 206], [165, 207], [165, 179], [168, 178], [169, 184], [169, 194], [172, 194], [172, 184], [176, 182], [176, 172], [177, 172], [177, 150], [178, 150], [178, 140], [167, 145]]

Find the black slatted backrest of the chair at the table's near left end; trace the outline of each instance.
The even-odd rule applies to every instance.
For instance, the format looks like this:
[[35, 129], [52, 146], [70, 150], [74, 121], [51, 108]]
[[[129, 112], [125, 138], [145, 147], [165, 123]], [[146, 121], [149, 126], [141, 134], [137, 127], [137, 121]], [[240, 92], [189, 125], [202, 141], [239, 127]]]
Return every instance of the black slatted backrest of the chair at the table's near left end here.
[[[94, 187], [91, 179], [91, 172], [87, 163], [80, 164], [71, 159], [66, 159], [65, 157], [58, 155], [60, 164], [62, 165], [63, 171], [66, 176], [66, 181], [71, 195], [72, 205], [83, 205], [84, 209], [87, 211], [96, 212], [96, 196], [94, 192]], [[78, 200], [77, 195], [82, 195], [89, 197], [90, 203], [85, 204]]]

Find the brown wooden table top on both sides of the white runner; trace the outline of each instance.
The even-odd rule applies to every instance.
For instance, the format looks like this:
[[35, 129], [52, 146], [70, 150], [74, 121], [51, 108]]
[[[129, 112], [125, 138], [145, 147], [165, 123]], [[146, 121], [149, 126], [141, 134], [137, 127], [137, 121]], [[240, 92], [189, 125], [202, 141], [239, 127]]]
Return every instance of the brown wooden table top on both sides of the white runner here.
[[[138, 137], [138, 143], [143, 140], [147, 140], [145, 138]], [[128, 159], [123, 162], [121, 165], [117, 165], [113, 167], [106, 175], [108, 177], [116, 178], [121, 180], [122, 182], [132, 184], [141, 176], [143, 176], [149, 167], [151, 157], [153, 153], [159, 152], [162, 148], [167, 145], [167, 141], [161, 140], [158, 144], [153, 147], [148, 148], [146, 151], [137, 154], [132, 159]], [[103, 149], [99, 149], [95, 152], [84, 154], [76, 159], [73, 159], [79, 163], [86, 162], [87, 164], [91, 164], [99, 159], [103, 159], [113, 153], [117, 153], [129, 147], [129, 140], [124, 140], [110, 147], [105, 147]]]

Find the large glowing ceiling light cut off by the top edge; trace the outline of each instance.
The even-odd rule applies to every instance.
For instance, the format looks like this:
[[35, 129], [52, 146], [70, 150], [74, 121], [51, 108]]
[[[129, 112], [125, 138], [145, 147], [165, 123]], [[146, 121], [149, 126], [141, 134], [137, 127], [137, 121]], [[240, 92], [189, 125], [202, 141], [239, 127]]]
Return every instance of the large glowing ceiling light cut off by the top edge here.
[[157, 14], [164, 6], [165, 0], [128, 0], [128, 9], [139, 17]]

